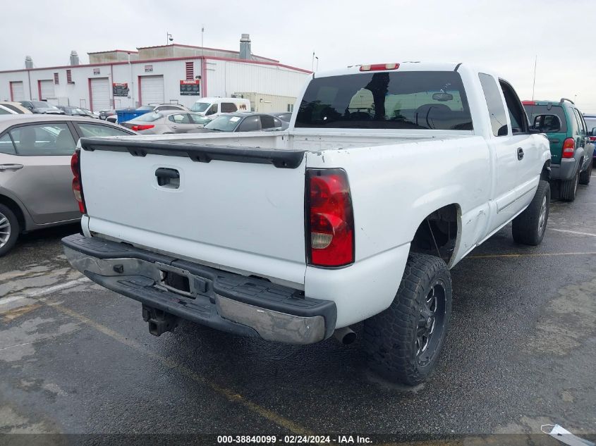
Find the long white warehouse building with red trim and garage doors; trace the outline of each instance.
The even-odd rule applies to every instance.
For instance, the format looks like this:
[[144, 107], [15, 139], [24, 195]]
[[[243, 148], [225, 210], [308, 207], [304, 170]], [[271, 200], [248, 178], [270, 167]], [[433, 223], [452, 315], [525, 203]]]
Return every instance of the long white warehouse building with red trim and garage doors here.
[[171, 44], [137, 51], [88, 53], [90, 63], [0, 71], [0, 99], [46, 100], [93, 111], [200, 97], [245, 97], [256, 111], [288, 111], [310, 71], [255, 56], [242, 35], [240, 51]]

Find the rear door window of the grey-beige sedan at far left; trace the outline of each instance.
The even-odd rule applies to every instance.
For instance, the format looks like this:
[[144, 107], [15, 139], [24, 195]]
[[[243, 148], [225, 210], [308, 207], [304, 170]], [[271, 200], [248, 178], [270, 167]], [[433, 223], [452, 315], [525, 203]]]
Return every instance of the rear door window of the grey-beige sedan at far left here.
[[17, 155], [72, 155], [75, 140], [66, 124], [23, 125], [10, 131]]

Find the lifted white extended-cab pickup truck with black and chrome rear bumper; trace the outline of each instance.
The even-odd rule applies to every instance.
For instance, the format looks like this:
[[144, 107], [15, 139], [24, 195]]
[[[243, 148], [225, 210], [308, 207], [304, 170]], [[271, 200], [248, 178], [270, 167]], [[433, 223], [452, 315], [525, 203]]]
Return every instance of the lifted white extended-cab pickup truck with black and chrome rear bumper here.
[[508, 82], [466, 64], [312, 75], [288, 130], [82, 138], [71, 264], [179, 319], [238, 335], [344, 342], [424, 380], [451, 312], [449, 268], [513, 221], [539, 244], [549, 143]]

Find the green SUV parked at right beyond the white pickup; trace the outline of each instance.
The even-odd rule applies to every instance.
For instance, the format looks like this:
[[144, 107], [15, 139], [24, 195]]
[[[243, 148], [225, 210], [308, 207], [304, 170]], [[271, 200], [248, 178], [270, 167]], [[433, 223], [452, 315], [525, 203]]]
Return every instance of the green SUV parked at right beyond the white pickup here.
[[578, 184], [588, 185], [594, 143], [588, 125], [573, 101], [523, 101], [534, 128], [547, 134], [551, 153], [551, 180], [561, 182], [561, 199], [573, 202]]

